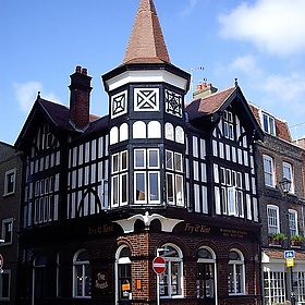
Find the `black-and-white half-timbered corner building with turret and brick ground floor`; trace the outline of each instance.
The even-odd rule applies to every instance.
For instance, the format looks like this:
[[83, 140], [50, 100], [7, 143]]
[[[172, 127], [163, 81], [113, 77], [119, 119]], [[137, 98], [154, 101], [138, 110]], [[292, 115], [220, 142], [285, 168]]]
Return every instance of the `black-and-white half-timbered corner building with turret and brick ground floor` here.
[[190, 74], [169, 58], [142, 0], [123, 63], [102, 76], [109, 114], [89, 114], [90, 76], [70, 108], [38, 95], [23, 152], [19, 304], [260, 304], [254, 143], [237, 84], [185, 107]]

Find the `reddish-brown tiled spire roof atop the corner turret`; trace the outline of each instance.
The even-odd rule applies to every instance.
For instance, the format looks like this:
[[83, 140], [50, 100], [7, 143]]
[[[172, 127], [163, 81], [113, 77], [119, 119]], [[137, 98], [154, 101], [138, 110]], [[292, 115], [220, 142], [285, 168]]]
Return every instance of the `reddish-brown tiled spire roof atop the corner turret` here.
[[152, 0], [141, 0], [123, 64], [170, 63]]

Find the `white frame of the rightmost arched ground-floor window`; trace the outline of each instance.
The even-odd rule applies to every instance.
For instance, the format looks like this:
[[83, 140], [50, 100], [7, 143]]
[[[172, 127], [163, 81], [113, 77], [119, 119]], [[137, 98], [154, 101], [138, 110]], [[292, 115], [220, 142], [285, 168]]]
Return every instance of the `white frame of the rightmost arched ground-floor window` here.
[[[231, 252], [235, 252], [240, 256], [240, 259], [230, 259]], [[241, 267], [240, 280], [237, 279], [239, 277], [237, 267]], [[245, 260], [244, 260], [244, 255], [236, 248], [231, 248], [229, 252], [229, 272], [230, 271], [232, 271], [233, 292], [230, 292], [229, 282], [228, 282], [229, 295], [245, 294], [246, 291]], [[230, 276], [228, 277], [228, 279], [230, 279]], [[241, 286], [240, 292], [237, 291], [237, 284], [240, 284]]]

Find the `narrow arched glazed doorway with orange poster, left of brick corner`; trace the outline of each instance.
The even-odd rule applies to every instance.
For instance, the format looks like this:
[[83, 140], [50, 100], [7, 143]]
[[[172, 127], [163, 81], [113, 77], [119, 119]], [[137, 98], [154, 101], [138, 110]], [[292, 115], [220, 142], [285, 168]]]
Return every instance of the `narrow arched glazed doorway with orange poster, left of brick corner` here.
[[131, 252], [126, 245], [118, 248], [115, 254], [115, 304], [130, 300], [132, 293]]

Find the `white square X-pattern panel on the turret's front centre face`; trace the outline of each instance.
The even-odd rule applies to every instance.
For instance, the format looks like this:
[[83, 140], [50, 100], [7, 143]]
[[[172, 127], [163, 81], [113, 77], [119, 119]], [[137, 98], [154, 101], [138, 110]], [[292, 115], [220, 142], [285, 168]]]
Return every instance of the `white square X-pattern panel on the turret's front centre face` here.
[[158, 111], [159, 89], [158, 88], [135, 88], [134, 111]]

